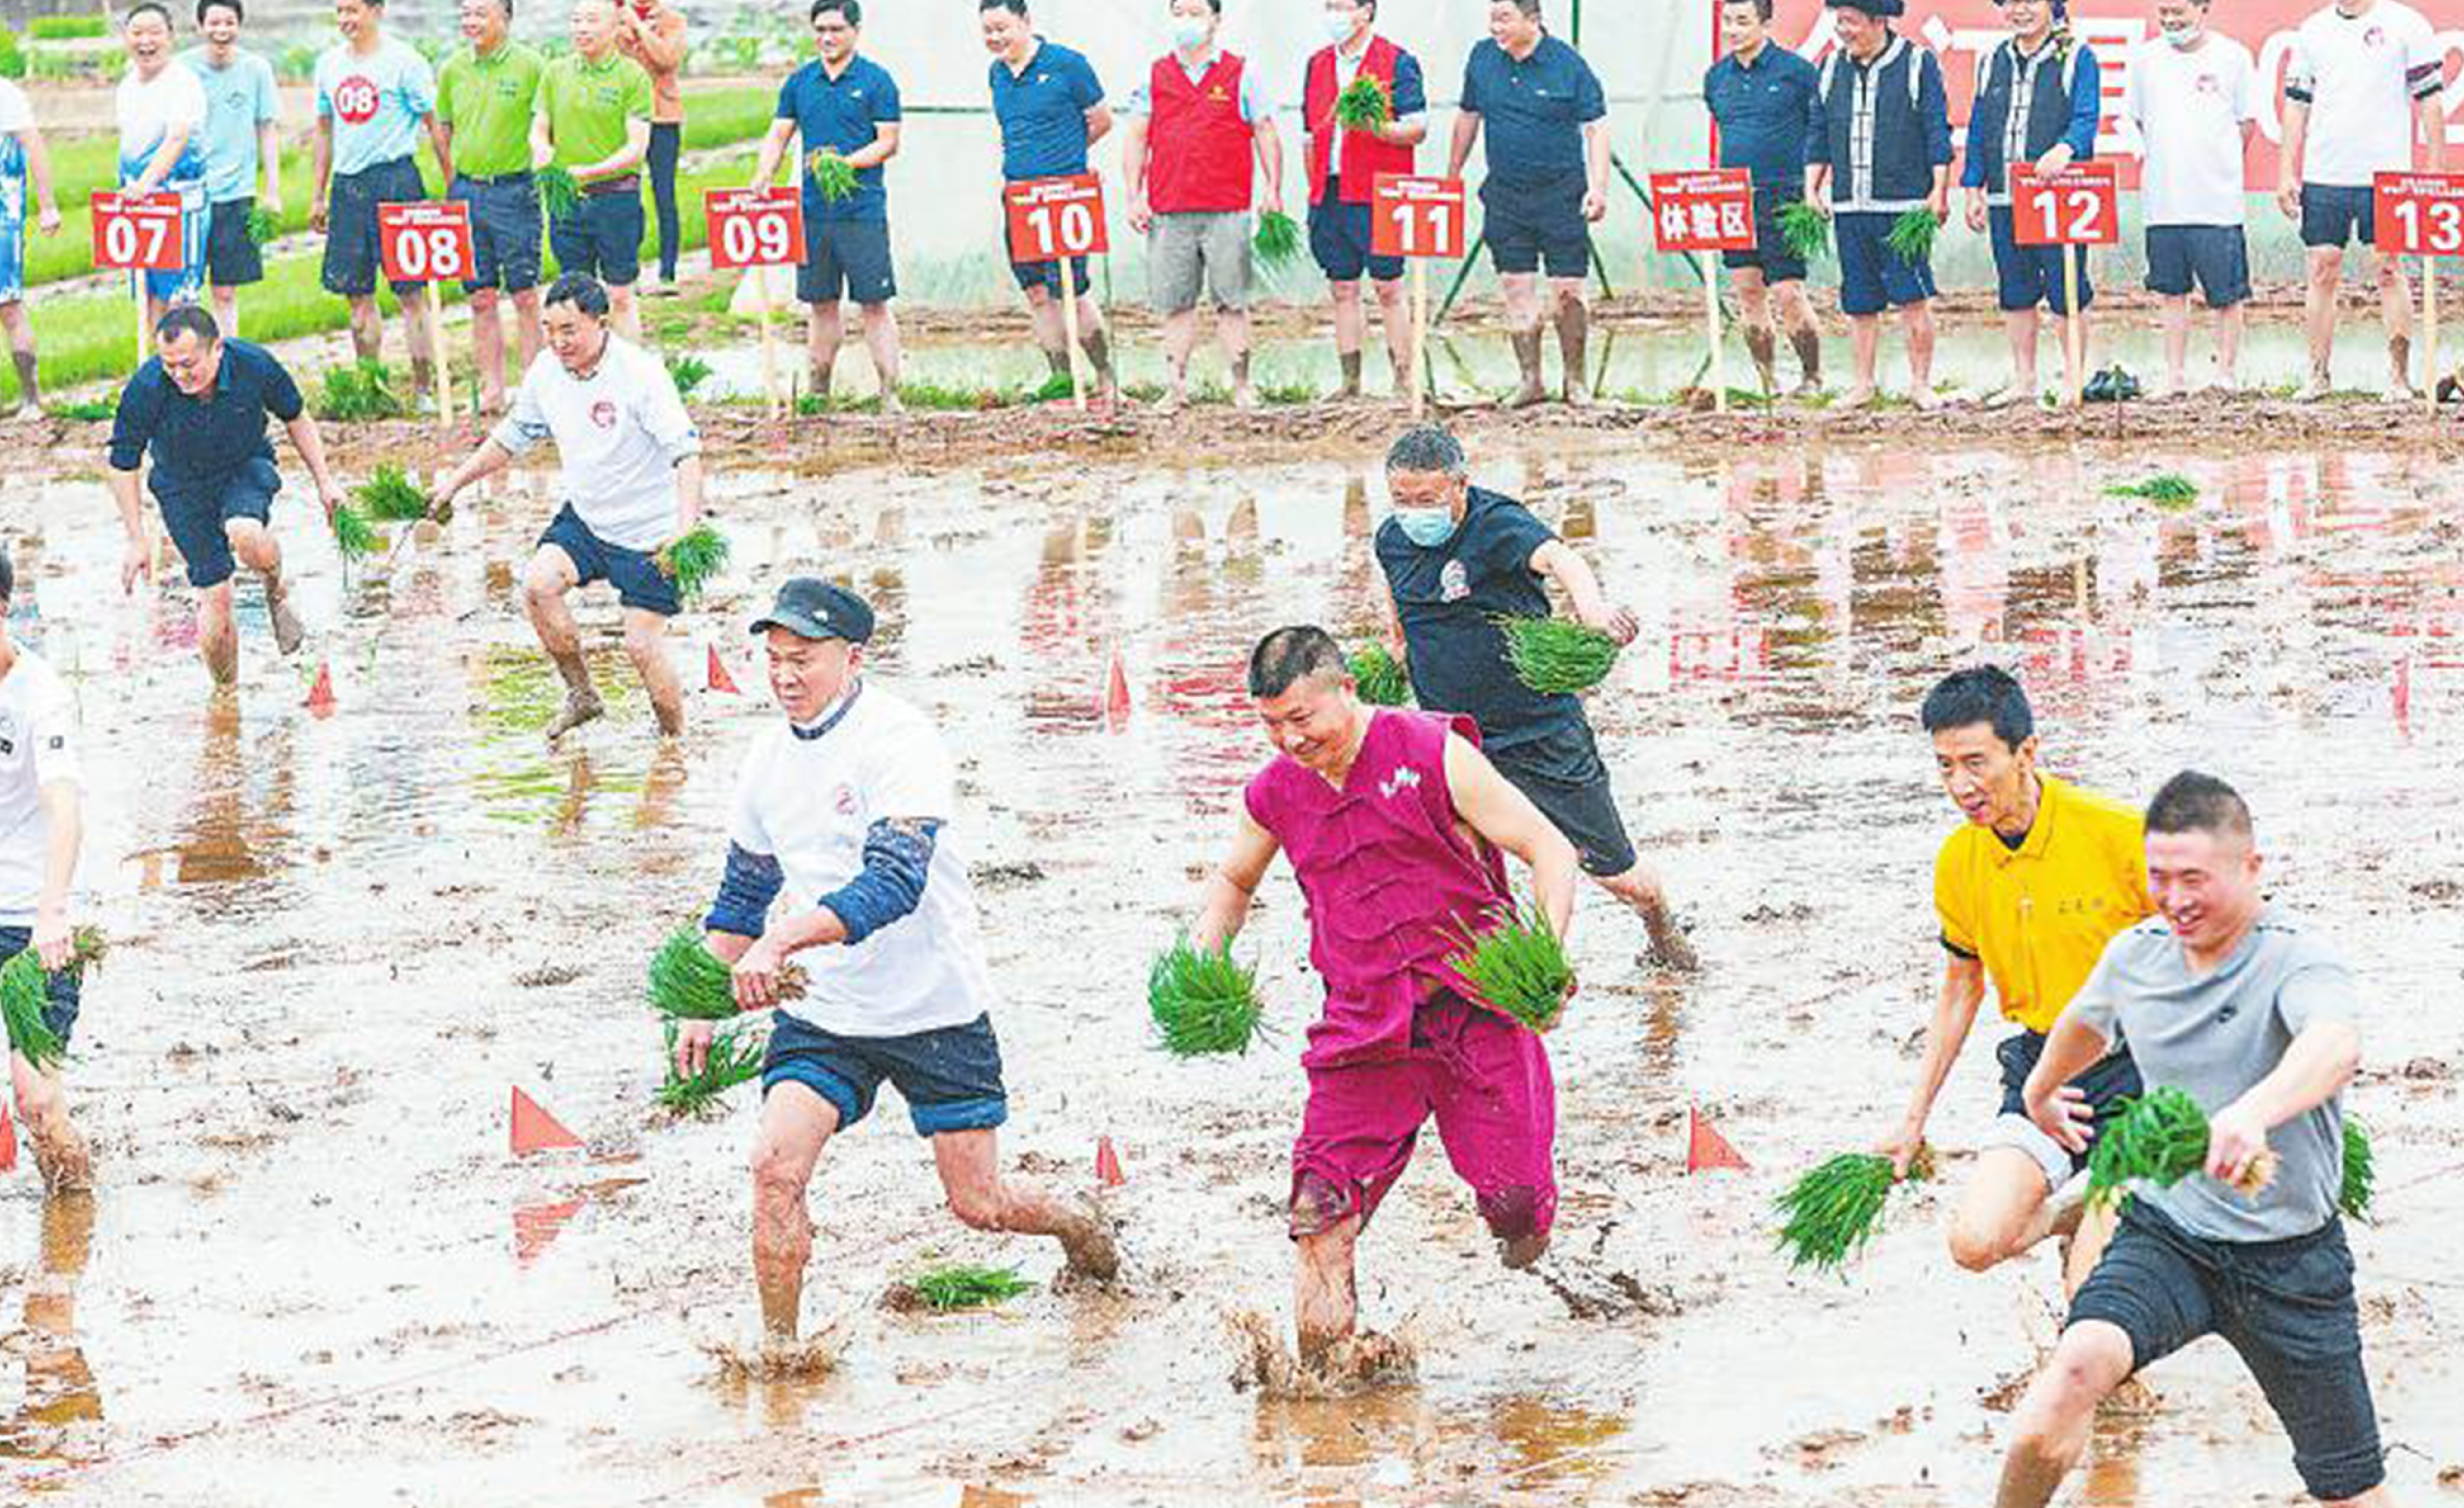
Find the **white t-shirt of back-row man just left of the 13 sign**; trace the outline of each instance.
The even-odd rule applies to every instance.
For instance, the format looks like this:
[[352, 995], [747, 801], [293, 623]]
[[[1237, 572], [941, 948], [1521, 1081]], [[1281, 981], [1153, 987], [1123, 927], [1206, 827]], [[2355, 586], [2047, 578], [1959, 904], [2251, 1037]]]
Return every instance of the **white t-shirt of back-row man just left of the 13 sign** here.
[[2412, 101], [2444, 67], [2430, 22], [2400, 0], [2358, 17], [2328, 5], [2301, 22], [2284, 59], [2287, 94], [2311, 101], [2301, 182], [2370, 187], [2378, 172], [2412, 168]]

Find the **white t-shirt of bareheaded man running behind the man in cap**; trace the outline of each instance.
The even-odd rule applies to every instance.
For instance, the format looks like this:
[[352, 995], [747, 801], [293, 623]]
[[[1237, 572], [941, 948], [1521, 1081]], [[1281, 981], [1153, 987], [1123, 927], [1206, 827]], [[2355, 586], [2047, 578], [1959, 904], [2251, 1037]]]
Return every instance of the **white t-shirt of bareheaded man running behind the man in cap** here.
[[623, 549], [658, 549], [675, 535], [675, 466], [702, 453], [668, 367], [614, 333], [589, 377], [542, 350], [490, 439], [515, 456], [557, 441], [562, 500]]

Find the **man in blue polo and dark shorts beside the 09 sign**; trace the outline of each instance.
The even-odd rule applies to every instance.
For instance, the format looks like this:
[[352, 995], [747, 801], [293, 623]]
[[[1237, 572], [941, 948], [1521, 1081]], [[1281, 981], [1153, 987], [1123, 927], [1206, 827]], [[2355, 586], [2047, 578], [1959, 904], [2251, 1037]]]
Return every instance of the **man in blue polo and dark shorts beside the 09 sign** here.
[[[813, 397], [830, 397], [838, 365], [838, 303], [862, 310], [865, 350], [882, 379], [882, 411], [899, 411], [899, 320], [890, 301], [899, 283], [890, 264], [890, 192], [882, 163], [899, 150], [899, 86], [890, 69], [855, 57], [865, 25], [860, 0], [813, 0], [813, 47], [821, 52], [779, 89], [779, 118], [761, 143], [754, 187], [769, 187], [788, 136], [803, 136], [803, 266], [796, 298], [806, 306], [803, 333]], [[855, 168], [855, 190], [830, 200], [813, 168], [821, 158]]]

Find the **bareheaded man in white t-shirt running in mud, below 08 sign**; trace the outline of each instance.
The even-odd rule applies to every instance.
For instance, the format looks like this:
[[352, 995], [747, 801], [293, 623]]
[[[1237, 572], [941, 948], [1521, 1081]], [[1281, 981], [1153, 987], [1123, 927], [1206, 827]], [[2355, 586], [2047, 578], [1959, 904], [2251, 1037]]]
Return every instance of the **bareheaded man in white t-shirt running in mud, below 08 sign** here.
[[685, 611], [658, 549], [702, 517], [702, 434], [685, 414], [668, 367], [609, 330], [609, 291], [589, 274], [564, 274], [540, 320], [547, 350], [530, 362], [513, 411], [436, 488], [444, 510], [466, 485], [503, 471], [545, 439], [557, 441], [562, 508], [522, 577], [522, 604], [540, 648], [564, 675], [564, 710], [549, 739], [604, 712], [582, 660], [582, 631], [564, 606], [574, 586], [606, 582], [623, 604], [623, 651], [650, 692], [658, 732], [685, 732], [685, 690], [660, 641]]

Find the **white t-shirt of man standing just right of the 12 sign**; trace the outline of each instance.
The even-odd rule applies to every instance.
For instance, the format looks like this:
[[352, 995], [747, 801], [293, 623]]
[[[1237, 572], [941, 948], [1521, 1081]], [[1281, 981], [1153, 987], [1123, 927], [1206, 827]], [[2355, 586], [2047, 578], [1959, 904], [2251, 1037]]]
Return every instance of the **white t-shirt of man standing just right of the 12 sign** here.
[[2242, 224], [2242, 123], [2257, 121], [2257, 67], [2232, 37], [2208, 32], [2183, 52], [2163, 37], [2139, 44], [2122, 113], [2146, 153], [2149, 224]]

